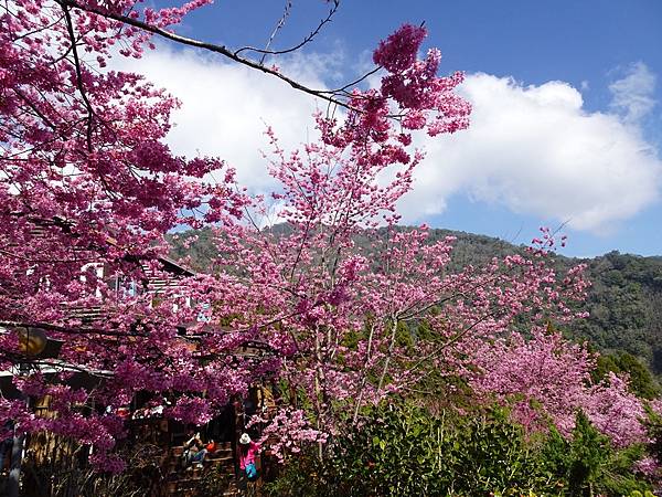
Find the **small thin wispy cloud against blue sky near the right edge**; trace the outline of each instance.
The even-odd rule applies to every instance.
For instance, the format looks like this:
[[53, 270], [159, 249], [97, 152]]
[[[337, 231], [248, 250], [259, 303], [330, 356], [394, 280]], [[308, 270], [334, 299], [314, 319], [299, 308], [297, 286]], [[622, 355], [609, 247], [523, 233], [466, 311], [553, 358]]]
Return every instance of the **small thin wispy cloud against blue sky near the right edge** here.
[[655, 75], [643, 62], [628, 67], [626, 75], [609, 85], [611, 107], [628, 123], [636, 123], [655, 106]]

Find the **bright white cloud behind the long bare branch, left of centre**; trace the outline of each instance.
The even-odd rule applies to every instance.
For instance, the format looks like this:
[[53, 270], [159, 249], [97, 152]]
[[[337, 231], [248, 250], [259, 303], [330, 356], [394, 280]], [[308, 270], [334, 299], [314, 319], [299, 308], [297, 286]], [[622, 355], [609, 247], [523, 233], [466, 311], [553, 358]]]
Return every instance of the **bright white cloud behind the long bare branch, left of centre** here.
[[[297, 55], [281, 68], [310, 87], [323, 88], [318, 75], [324, 67], [337, 65], [321, 55], [306, 61]], [[217, 56], [159, 46], [140, 60], [114, 57], [110, 66], [143, 74], [181, 101], [168, 136], [177, 154], [221, 157], [237, 170], [238, 182], [254, 191], [270, 191], [276, 186], [261, 155], [271, 150], [265, 136], [267, 126], [274, 127], [286, 149], [316, 136], [311, 117], [318, 105], [314, 98], [274, 76]]]

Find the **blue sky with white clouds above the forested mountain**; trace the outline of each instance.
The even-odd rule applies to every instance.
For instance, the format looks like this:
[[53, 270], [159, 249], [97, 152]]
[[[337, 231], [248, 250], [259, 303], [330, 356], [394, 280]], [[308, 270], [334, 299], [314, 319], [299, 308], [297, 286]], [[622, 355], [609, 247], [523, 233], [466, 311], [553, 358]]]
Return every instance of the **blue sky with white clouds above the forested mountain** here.
[[[264, 46], [284, 4], [221, 0], [195, 12], [178, 31], [233, 47]], [[298, 42], [327, 9], [321, 0], [295, 0], [274, 45]], [[564, 229], [568, 255], [610, 250], [662, 255], [661, 1], [344, 1], [314, 43], [282, 64], [305, 81], [332, 85], [364, 67], [378, 40], [403, 22], [423, 21], [429, 30], [426, 46], [438, 46], [444, 54], [441, 71], [466, 71], [471, 80], [467, 95], [479, 104], [471, 135], [442, 146], [420, 144], [430, 149], [435, 170], [424, 171], [419, 202], [409, 201], [406, 219], [516, 243], [528, 242], [540, 225], [569, 221]], [[288, 113], [306, 112], [302, 101], [287, 101], [299, 98], [288, 96], [290, 89], [248, 75], [244, 85], [244, 75], [229, 75], [223, 61], [189, 54], [188, 68], [174, 70], [180, 49], [171, 50], [167, 61], [146, 72], [171, 87], [184, 106], [185, 95], [169, 80], [173, 71], [189, 71], [191, 78], [195, 71], [202, 81], [202, 72], [218, 64], [215, 76], [228, 83], [204, 86], [212, 95], [255, 84], [253, 95], [270, 92], [276, 101], [267, 95], [253, 102], [248, 94], [242, 101], [247, 115], [258, 118], [264, 102], [259, 119], [273, 124], [282, 118], [287, 135], [295, 127], [288, 125], [295, 119]], [[164, 63], [170, 74], [157, 68]], [[185, 94], [181, 83], [179, 88]], [[288, 107], [280, 113], [285, 117], [279, 99]], [[193, 97], [190, 102], [195, 108]], [[520, 114], [511, 115], [511, 108]], [[214, 126], [220, 127], [216, 137], [232, 134], [223, 119], [214, 119]], [[222, 149], [194, 149], [201, 148], [224, 156]], [[242, 161], [253, 160], [239, 151], [231, 156], [238, 170]], [[268, 188], [268, 181], [255, 187]]]

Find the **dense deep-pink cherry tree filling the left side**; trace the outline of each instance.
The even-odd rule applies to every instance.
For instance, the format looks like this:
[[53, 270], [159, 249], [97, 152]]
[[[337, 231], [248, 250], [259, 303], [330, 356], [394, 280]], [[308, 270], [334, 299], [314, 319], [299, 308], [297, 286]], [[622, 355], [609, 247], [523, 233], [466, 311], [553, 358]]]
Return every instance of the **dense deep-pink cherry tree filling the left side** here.
[[[193, 7], [160, 15], [175, 22]], [[167, 288], [160, 306], [135, 292], [163, 273], [169, 229], [201, 222], [190, 212], [203, 207], [202, 221], [222, 221], [244, 201], [221, 160], [188, 160], [163, 142], [173, 97], [139, 75], [99, 71], [116, 43], [138, 55], [139, 32], [42, 1], [4, 3], [0, 23], [0, 370], [22, 394], [3, 396], [0, 419], [92, 444], [93, 462], [119, 469], [108, 456], [122, 436], [116, 409], [135, 392], [178, 392], [170, 414], [204, 420], [246, 388], [235, 364], [201, 368], [177, 339], [191, 319], [181, 290]], [[218, 169], [224, 183], [202, 181]], [[30, 334], [44, 330], [63, 343], [56, 359], [30, 351]], [[70, 387], [76, 372], [96, 381]], [[46, 395], [57, 416], [36, 417], [25, 399]]]

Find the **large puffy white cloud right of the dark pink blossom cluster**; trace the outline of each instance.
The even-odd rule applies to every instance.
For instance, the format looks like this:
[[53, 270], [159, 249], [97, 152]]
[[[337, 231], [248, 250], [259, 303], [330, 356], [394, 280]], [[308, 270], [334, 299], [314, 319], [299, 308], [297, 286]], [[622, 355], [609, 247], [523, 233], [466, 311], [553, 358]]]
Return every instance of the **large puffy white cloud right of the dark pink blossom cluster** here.
[[461, 92], [473, 104], [470, 129], [421, 142], [428, 155], [402, 201], [407, 220], [440, 213], [450, 195], [466, 193], [599, 232], [658, 198], [656, 151], [618, 115], [586, 112], [567, 83], [473, 74]]

